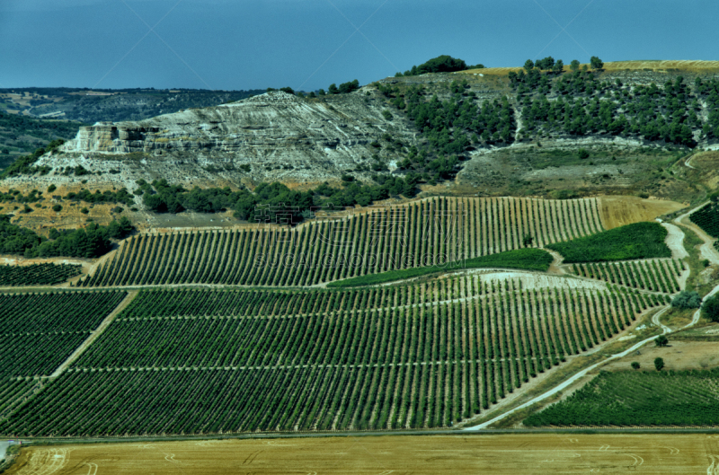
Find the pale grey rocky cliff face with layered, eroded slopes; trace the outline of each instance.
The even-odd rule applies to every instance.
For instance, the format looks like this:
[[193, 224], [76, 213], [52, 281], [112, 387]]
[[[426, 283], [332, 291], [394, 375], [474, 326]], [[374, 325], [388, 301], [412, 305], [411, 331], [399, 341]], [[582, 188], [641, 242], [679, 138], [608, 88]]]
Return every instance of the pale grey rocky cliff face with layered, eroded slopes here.
[[368, 88], [323, 101], [268, 92], [137, 122], [99, 122], [37, 164], [53, 169], [52, 180], [82, 165], [93, 172], [84, 176], [90, 183], [133, 187], [139, 178], [316, 183], [351, 172], [368, 179], [377, 152], [372, 142], [388, 133], [407, 146], [416, 143], [412, 124], [396, 115], [385, 119], [385, 107]]

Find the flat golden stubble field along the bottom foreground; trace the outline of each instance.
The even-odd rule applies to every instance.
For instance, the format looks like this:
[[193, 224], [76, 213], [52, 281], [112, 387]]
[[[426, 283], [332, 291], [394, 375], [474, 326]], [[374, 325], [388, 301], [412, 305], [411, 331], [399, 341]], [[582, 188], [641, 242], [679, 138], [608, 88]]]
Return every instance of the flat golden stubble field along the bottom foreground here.
[[62, 444], [7, 474], [277, 475], [719, 472], [719, 435], [431, 435]]

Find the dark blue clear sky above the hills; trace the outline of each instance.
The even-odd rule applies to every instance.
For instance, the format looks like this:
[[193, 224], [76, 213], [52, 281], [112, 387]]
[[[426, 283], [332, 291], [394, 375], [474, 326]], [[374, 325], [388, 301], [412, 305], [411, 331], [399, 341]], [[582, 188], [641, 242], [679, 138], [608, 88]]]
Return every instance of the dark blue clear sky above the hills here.
[[715, 0], [0, 0], [0, 88], [309, 91], [442, 54], [719, 59], [717, 18]]

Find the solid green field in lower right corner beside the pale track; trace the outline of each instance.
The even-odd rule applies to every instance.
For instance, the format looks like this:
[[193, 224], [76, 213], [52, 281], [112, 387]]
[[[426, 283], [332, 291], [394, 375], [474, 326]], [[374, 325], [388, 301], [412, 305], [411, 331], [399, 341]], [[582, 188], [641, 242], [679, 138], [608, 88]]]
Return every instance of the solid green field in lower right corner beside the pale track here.
[[601, 373], [524, 425], [719, 426], [717, 377], [717, 369]]

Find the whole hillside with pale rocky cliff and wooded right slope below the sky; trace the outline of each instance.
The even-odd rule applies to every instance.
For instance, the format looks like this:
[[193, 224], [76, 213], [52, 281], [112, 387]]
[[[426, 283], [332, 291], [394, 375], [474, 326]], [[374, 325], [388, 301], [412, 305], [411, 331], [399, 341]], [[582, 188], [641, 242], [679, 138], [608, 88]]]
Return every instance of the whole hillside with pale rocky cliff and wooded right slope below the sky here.
[[102, 122], [82, 128], [61, 154], [41, 157], [37, 166], [48, 175], [0, 185], [72, 187], [77, 179], [67, 170], [82, 166], [90, 171], [87, 186], [100, 189], [157, 178], [231, 187], [280, 180], [306, 188], [344, 174], [371, 182], [392, 172], [416, 174], [428, 193], [703, 196], [682, 175], [690, 169], [672, 167], [719, 143], [716, 62], [567, 68], [562, 75], [511, 77], [519, 68], [487, 68], [386, 78], [314, 99], [270, 92]]

